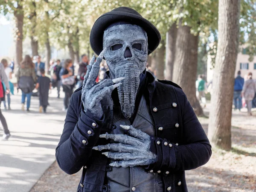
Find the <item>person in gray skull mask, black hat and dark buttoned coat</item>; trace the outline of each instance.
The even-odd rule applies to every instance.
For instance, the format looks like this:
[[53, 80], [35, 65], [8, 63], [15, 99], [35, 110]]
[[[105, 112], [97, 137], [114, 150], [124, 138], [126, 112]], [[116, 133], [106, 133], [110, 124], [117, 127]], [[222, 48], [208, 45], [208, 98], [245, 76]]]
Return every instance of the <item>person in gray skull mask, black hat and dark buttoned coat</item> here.
[[[184, 171], [209, 160], [211, 145], [181, 88], [146, 73], [160, 39], [127, 7], [94, 23], [90, 44], [99, 57], [70, 99], [56, 148], [64, 172], [83, 167], [78, 191], [186, 192]], [[109, 71], [96, 84], [103, 57]]]

